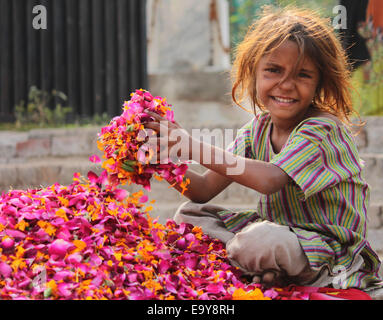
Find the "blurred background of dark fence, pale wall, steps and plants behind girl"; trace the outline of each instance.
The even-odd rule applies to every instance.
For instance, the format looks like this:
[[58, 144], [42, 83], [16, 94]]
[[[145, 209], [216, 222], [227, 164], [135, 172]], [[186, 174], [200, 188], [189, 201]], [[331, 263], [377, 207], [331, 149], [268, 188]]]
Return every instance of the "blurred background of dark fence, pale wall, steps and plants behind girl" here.
[[[372, 190], [369, 240], [383, 256], [381, 0], [0, 0], [0, 190], [99, 170], [88, 161], [100, 155], [97, 133], [139, 88], [167, 97], [189, 132], [227, 145], [225, 131], [251, 118], [231, 101], [233, 53], [266, 4], [318, 11], [353, 63], [353, 102], [366, 121], [356, 141]], [[185, 201], [158, 181], [149, 196], [161, 221]], [[232, 185], [213, 202], [236, 209], [257, 199]]]

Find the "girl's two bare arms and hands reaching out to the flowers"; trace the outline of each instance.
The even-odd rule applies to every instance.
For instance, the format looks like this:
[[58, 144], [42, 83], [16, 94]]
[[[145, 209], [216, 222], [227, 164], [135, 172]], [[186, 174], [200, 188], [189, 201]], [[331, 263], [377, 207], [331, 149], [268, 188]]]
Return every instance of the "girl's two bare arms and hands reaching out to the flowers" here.
[[[204, 175], [189, 171], [186, 178], [191, 183], [185, 196], [195, 202], [206, 202], [225, 189], [231, 182], [254, 189], [263, 194], [272, 194], [285, 186], [289, 176], [277, 166], [268, 162], [248, 159], [226, 150], [194, 139], [176, 122], [169, 122], [163, 117], [146, 111], [155, 121], [145, 124], [161, 134], [159, 158], [178, 156], [179, 150], [187, 150], [187, 159], [194, 160], [207, 169]], [[175, 134], [174, 134], [175, 133]], [[176, 141], [169, 137], [177, 137]], [[175, 151], [172, 151], [175, 149]], [[182, 152], [185, 157], [185, 152]], [[180, 191], [180, 188], [176, 188]]]

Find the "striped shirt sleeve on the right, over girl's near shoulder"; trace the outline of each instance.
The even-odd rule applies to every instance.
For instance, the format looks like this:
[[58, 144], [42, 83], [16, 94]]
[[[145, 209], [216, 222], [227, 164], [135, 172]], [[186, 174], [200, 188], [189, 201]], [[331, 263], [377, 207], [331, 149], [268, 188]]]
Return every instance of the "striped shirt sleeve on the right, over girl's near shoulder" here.
[[307, 199], [357, 175], [360, 159], [352, 138], [331, 120], [310, 120], [296, 129], [271, 163], [285, 171]]

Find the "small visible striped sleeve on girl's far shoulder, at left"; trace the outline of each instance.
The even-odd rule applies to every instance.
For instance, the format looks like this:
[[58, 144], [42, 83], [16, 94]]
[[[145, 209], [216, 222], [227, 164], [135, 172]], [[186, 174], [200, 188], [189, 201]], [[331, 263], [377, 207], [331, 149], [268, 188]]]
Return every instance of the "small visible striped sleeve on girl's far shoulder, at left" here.
[[253, 158], [253, 129], [256, 119], [249, 121], [237, 132], [236, 138], [226, 148], [227, 151], [245, 158]]

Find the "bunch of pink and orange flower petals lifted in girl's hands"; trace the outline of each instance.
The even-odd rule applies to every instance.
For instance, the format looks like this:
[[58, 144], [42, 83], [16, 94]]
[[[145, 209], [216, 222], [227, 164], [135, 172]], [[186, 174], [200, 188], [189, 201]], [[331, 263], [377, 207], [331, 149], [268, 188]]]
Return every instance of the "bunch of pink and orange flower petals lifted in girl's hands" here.
[[104, 153], [102, 166], [108, 172], [109, 183], [114, 186], [134, 183], [150, 190], [150, 179], [154, 175], [158, 179], [175, 181], [186, 190], [190, 183], [184, 180], [187, 164], [175, 164], [170, 159], [166, 163], [153, 161], [157, 152], [146, 143], [148, 135], [143, 123], [151, 117], [145, 110], [174, 122], [171, 105], [165, 98], [153, 97], [143, 89], [130, 96], [131, 99], [124, 103], [122, 114], [101, 129], [97, 141], [98, 148]]

